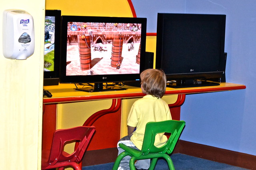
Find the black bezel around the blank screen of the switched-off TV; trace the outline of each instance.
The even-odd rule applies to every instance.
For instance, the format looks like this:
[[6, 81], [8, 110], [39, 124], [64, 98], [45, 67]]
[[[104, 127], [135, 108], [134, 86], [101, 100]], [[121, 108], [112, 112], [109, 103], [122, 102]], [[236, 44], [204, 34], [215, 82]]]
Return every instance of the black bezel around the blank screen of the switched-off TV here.
[[[197, 72], [197, 73], [166, 73], [167, 80], [177, 80], [177, 81], [184, 81], [189, 79], [204, 79], [204, 80], [211, 80], [211, 79], [218, 79], [220, 80], [225, 73], [226, 67], [226, 58], [224, 54], [224, 43], [225, 43], [225, 30], [226, 30], [226, 15], [223, 14], [175, 14], [175, 13], [158, 13], [158, 20], [157, 20], [157, 37], [156, 37], [156, 68], [162, 69], [162, 55], [163, 55], [163, 47], [162, 44], [164, 42], [164, 30], [163, 30], [163, 22], [164, 18], [176, 18], [176, 17], [184, 17], [184, 19], [188, 18], [211, 18], [217, 17], [220, 20], [221, 24], [221, 45], [220, 45], [220, 64], [218, 71], [209, 71], [209, 72]], [[171, 67], [171, 65], [170, 65]], [[220, 81], [219, 81], [220, 82]], [[222, 81], [223, 82], [223, 81]]]

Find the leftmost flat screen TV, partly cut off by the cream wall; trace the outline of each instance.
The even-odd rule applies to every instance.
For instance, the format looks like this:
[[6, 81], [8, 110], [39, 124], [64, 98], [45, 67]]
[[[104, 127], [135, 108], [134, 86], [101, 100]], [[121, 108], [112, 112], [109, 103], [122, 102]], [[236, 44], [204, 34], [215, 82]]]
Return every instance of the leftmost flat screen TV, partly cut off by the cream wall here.
[[61, 11], [46, 10], [44, 23], [44, 85], [58, 85]]

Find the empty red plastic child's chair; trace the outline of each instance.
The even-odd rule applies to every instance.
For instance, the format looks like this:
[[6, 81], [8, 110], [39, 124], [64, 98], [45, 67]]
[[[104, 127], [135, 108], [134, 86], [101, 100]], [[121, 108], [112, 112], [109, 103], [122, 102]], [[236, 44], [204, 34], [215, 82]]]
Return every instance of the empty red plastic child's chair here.
[[[84, 156], [84, 152], [92, 138], [95, 127], [74, 127], [58, 129], [54, 132], [51, 150], [42, 150], [42, 170], [71, 166], [75, 170], [81, 170], [78, 165]], [[64, 151], [67, 142], [79, 142], [72, 154]]]

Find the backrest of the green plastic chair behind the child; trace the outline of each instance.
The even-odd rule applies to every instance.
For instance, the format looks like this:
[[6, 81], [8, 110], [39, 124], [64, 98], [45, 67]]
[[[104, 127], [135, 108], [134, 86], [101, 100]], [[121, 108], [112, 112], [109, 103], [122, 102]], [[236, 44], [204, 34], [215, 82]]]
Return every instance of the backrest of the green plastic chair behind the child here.
[[[185, 121], [161, 121], [161, 122], [149, 122], [146, 125], [144, 140], [142, 144], [142, 154], [148, 153], [168, 153], [171, 154], [180, 134], [185, 126]], [[171, 133], [171, 136], [167, 140], [166, 144], [161, 147], [154, 146], [155, 136], [158, 133]]]

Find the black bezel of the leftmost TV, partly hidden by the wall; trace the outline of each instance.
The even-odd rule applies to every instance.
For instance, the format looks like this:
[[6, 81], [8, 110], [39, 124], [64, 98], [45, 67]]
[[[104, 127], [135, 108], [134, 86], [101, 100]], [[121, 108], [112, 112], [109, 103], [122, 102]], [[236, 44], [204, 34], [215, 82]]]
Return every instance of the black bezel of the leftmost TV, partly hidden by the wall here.
[[[61, 10], [45, 10], [45, 16], [55, 17], [54, 71], [44, 71], [44, 86], [58, 85], [60, 77]], [[57, 21], [57, 22], [56, 22]]]

